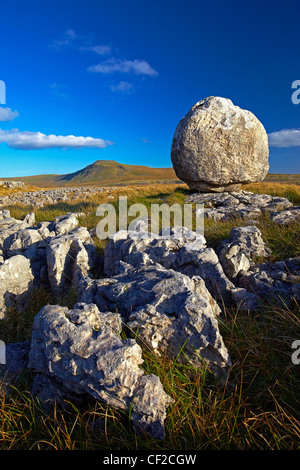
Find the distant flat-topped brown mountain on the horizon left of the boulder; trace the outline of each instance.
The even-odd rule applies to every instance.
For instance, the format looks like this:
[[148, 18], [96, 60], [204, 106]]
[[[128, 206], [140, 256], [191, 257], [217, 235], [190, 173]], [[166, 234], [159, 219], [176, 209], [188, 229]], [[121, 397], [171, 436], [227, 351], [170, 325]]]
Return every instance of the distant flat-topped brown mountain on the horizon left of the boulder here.
[[173, 168], [125, 165], [113, 160], [97, 160], [82, 170], [66, 175], [36, 175], [5, 178], [5, 180], [24, 181], [24, 183], [41, 188], [57, 186], [106, 186], [162, 180], [179, 181]]

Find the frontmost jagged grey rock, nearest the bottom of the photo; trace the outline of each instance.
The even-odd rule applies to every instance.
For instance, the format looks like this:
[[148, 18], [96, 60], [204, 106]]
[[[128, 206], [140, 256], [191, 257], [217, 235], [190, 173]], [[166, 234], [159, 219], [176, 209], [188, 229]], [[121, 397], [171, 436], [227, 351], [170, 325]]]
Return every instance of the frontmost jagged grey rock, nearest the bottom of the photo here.
[[102, 313], [96, 305], [45, 306], [34, 320], [28, 367], [73, 393], [131, 410], [138, 430], [162, 439], [173, 399], [157, 376], [139, 367], [142, 350], [136, 341], [121, 340], [120, 333], [120, 316]]

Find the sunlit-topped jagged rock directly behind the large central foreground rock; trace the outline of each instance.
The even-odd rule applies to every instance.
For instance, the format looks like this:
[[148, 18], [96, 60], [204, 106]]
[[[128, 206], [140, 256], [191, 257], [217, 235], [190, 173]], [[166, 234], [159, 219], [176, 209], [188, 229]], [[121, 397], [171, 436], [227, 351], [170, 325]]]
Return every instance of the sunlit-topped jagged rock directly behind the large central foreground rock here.
[[[190, 277], [200, 276], [214, 298], [230, 303], [230, 289], [234, 285], [224, 274], [215, 251], [206, 246], [203, 235], [182, 227], [172, 230], [171, 235], [174, 230], [177, 233], [175, 238], [146, 232], [117, 232], [105, 247], [104, 273], [117, 274], [119, 261], [133, 266], [159, 263]], [[183, 233], [181, 238], [178, 231]]]

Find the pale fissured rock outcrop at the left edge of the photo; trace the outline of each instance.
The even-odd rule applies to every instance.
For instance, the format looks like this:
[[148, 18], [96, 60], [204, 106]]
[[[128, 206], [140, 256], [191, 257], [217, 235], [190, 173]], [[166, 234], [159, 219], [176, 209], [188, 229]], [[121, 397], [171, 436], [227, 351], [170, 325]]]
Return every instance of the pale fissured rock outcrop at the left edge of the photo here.
[[9, 211], [1, 211], [2, 317], [7, 307], [17, 303], [23, 306], [21, 300], [32, 287], [51, 288], [54, 292], [76, 287], [82, 276], [92, 275], [100, 259], [90, 233], [78, 226], [80, 216], [68, 213], [35, 226], [34, 213], [17, 220], [10, 217]]

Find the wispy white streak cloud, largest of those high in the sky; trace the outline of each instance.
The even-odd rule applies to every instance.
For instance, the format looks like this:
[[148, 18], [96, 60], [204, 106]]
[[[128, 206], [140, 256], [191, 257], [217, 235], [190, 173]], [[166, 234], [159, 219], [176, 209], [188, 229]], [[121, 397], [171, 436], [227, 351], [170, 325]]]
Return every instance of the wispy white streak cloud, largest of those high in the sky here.
[[126, 60], [111, 57], [97, 65], [92, 65], [87, 69], [89, 72], [110, 74], [114, 72], [134, 73], [135, 75], [156, 76], [158, 72], [145, 60]]

